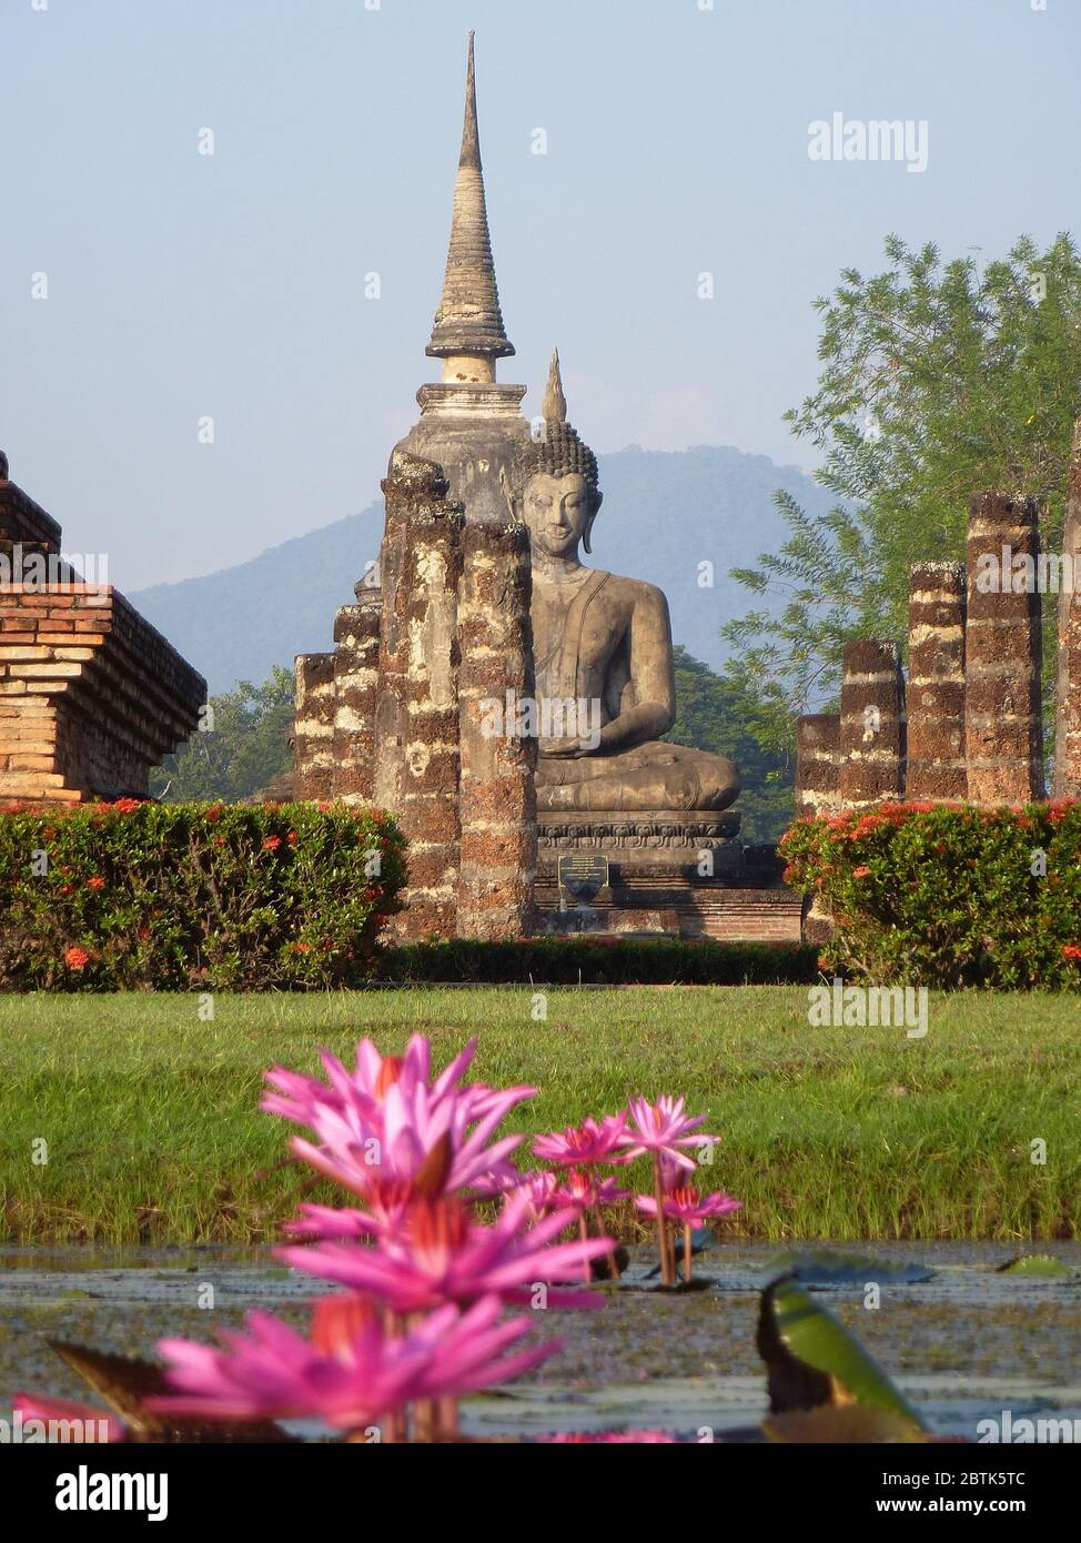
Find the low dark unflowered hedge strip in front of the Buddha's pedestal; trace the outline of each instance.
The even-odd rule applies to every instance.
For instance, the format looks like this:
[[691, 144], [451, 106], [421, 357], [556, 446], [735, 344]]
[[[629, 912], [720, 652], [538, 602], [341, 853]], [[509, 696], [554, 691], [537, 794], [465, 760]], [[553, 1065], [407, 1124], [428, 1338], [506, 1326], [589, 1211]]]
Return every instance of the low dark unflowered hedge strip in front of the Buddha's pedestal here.
[[410, 943], [379, 947], [384, 981], [549, 986], [771, 986], [817, 980], [817, 949], [786, 943], [680, 938], [524, 938], [514, 943]]

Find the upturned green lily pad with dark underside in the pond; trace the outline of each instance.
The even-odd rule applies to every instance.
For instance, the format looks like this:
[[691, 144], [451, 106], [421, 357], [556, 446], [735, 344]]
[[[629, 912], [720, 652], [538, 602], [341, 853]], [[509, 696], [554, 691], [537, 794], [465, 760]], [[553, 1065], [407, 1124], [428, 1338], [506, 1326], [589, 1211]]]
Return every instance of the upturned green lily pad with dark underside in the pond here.
[[865, 1404], [924, 1429], [859, 1339], [791, 1276], [773, 1281], [762, 1293], [757, 1347], [766, 1362], [773, 1415], [822, 1404]]

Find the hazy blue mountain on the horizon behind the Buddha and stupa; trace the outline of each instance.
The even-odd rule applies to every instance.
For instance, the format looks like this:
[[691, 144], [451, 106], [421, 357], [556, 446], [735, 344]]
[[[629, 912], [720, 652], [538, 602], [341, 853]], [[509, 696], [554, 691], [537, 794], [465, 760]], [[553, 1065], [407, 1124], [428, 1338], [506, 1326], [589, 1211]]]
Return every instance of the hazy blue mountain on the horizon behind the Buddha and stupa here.
[[[751, 600], [728, 569], [753, 566], [788, 532], [773, 494], [783, 488], [813, 514], [830, 506], [830, 494], [796, 466], [729, 446], [631, 446], [598, 460], [604, 503], [589, 562], [660, 585], [675, 642], [722, 665], [719, 630]], [[236, 680], [265, 680], [295, 654], [332, 647], [335, 611], [353, 600], [353, 582], [376, 557], [381, 535], [379, 501], [236, 568], [130, 599], [207, 676], [211, 693], [227, 691]], [[708, 576], [700, 563], [712, 563], [712, 588], [700, 583]]]

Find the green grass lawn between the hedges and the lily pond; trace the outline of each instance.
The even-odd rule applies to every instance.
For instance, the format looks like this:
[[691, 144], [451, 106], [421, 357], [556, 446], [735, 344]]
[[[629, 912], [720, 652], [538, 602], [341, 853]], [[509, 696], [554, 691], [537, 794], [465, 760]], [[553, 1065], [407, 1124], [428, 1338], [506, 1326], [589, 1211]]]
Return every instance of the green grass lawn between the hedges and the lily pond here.
[[304, 1173], [274, 1167], [288, 1128], [258, 1111], [264, 1069], [313, 1069], [321, 1045], [350, 1057], [361, 1034], [396, 1049], [412, 1029], [439, 1063], [480, 1034], [478, 1077], [540, 1086], [518, 1111], [530, 1133], [686, 1094], [723, 1137], [711, 1177], [745, 1200], [749, 1236], [1081, 1233], [1081, 1012], [1066, 997], [933, 995], [922, 1040], [810, 1028], [793, 986], [551, 991], [546, 1021], [527, 988], [214, 1008], [200, 1023], [184, 995], [0, 998], [6, 1241], [271, 1237]]

